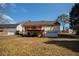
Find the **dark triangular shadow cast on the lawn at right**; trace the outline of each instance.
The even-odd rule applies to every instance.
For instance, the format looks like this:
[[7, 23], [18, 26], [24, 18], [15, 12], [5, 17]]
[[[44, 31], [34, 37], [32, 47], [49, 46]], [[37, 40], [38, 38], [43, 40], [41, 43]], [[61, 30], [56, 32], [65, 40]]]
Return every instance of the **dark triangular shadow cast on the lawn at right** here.
[[46, 44], [56, 44], [58, 46], [65, 47], [75, 52], [79, 52], [79, 41], [48, 41]]

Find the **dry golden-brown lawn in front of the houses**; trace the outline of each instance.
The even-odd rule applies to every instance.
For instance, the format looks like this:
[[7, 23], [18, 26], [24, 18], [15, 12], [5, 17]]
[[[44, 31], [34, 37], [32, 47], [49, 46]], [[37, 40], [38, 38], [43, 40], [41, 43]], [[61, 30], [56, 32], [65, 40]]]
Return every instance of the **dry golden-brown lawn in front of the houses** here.
[[79, 56], [79, 41], [0, 36], [0, 56]]

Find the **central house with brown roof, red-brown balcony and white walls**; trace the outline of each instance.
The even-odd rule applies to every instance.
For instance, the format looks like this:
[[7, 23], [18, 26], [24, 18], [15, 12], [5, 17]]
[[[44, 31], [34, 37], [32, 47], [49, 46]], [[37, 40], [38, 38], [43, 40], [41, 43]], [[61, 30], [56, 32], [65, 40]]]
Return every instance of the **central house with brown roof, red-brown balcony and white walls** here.
[[58, 37], [60, 24], [56, 21], [28, 21], [18, 25], [17, 31], [26, 36]]

